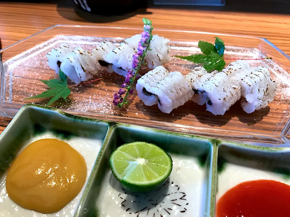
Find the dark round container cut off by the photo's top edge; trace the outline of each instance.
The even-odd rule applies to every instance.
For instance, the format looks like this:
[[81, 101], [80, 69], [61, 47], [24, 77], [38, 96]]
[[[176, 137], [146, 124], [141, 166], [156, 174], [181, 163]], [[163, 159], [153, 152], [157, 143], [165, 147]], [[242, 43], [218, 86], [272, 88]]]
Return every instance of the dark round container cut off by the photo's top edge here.
[[73, 0], [77, 13], [113, 16], [141, 7], [140, 0]]

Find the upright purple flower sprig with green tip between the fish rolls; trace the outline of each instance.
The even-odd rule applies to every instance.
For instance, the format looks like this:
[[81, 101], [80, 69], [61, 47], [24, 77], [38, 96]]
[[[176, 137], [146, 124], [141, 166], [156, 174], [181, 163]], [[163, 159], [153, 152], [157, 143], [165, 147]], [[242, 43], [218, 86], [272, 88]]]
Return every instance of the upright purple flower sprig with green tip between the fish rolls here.
[[124, 104], [128, 104], [129, 101], [127, 100], [127, 96], [133, 93], [133, 84], [138, 76], [138, 72], [142, 64], [144, 64], [143, 61], [147, 50], [150, 50], [149, 45], [152, 39], [153, 30], [152, 21], [143, 18], [143, 23], [144, 31], [141, 33], [141, 39], [138, 43], [137, 53], [133, 55], [132, 69], [127, 72], [125, 82], [121, 85], [122, 88], [118, 91], [118, 93], [114, 93], [113, 104], [119, 108], [122, 108]]

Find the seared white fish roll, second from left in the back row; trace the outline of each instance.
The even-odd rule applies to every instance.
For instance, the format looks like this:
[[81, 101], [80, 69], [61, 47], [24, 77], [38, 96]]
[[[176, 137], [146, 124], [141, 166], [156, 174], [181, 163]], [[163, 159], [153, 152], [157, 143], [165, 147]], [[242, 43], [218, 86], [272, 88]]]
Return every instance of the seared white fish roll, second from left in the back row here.
[[66, 56], [60, 69], [74, 83], [89, 80], [101, 70], [95, 55], [82, 48], [76, 48]]

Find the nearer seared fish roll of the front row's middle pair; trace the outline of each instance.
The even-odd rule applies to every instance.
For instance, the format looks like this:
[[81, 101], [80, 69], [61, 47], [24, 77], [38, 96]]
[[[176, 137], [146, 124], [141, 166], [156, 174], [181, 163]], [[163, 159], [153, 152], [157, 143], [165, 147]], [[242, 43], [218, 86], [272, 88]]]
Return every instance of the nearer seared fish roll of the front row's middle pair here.
[[237, 80], [224, 71], [211, 73], [196, 88], [207, 96], [206, 109], [214, 115], [224, 115], [241, 97]]

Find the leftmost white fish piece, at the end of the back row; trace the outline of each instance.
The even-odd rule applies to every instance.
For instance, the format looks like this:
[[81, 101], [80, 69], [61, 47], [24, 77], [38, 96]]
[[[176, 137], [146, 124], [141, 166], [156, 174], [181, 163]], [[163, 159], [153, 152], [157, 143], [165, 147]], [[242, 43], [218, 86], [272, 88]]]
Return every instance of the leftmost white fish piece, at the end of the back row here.
[[70, 48], [68, 45], [62, 45], [57, 48], [53, 48], [50, 52], [47, 53], [48, 58], [48, 65], [52, 68], [56, 74], [60, 69], [60, 64], [65, 61], [66, 55], [72, 52], [73, 49]]

